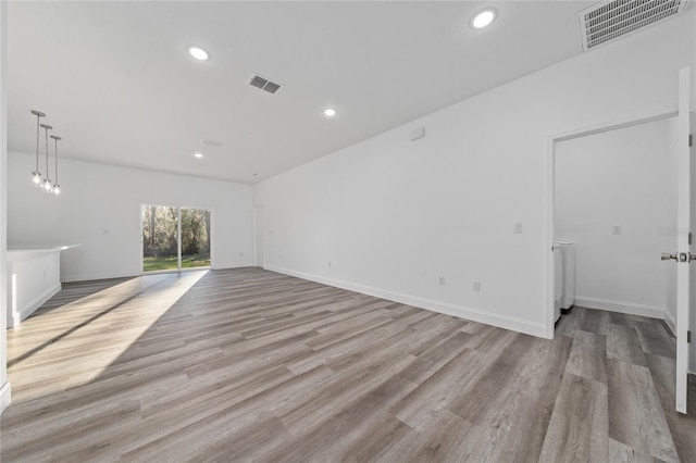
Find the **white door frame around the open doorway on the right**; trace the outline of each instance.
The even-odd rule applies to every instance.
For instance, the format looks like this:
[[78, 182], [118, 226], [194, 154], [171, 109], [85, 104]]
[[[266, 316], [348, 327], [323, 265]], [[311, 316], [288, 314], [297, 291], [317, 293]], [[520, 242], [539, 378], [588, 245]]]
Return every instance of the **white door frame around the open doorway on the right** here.
[[[655, 121], [662, 121], [670, 117], [679, 116], [678, 108], [673, 111], [654, 112], [623, 120], [610, 121], [597, 125], [577, 128], [561, 134], [551, 135], [546, 142], [546, 204], [544, 213], [544, 317], [545, 317], [545, 337], [554, 339], [555, 334], [555, 314], [554, 300], [556, 288], [556, 262], [554, 260], [554, 241], [555, 236], [555, 212], [554, 203], [556, 201], [556, 145], [561, 141], [582, 138], [589, 135], [601, 134], [604, 132], [617, 130], [620, 128], [632, 127], [634, 125], [645, 124]], [[656, 258], [657, 259], [657, 258]]]

